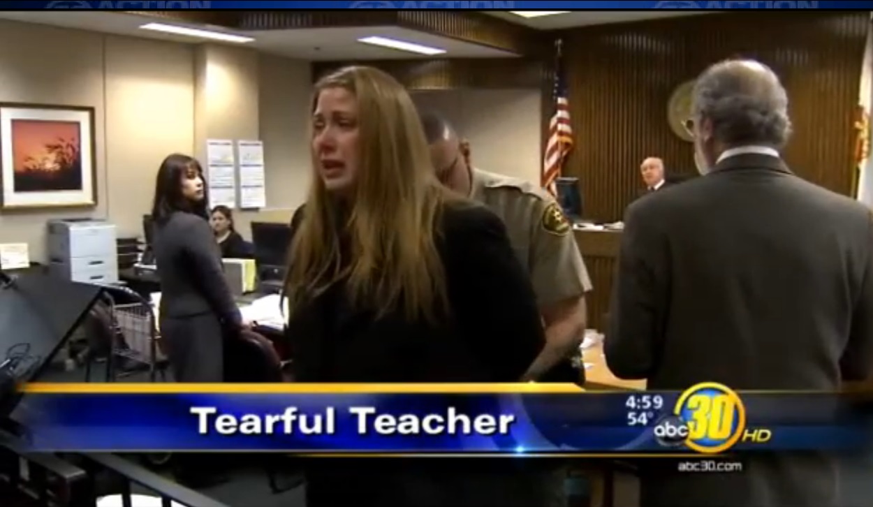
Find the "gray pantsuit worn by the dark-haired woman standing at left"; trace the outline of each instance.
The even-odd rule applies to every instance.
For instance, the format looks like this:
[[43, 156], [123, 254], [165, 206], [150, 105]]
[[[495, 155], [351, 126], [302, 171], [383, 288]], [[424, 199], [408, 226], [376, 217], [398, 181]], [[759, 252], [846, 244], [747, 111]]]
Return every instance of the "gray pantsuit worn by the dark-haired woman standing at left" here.
[[242, 318], [209, 223], [178, 211], [155, 227], [161, 337], [178, 382], [223, 380], [223, 337]]

